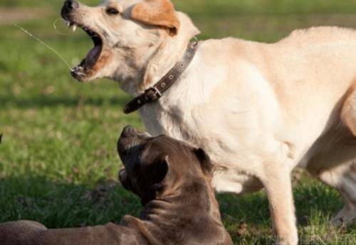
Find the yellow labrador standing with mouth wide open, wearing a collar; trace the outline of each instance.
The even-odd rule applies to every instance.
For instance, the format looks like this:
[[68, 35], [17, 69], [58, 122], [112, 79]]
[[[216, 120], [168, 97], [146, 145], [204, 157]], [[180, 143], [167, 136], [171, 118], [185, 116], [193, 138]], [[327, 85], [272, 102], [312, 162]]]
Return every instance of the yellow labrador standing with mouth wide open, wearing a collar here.
[[[112, 0], [96, 7], [68, 0], [62, 16], [95, 45], [73, 77], [108, 77], [135, 96], [167, 81], [167, 74], [172, 78], [172, 67], [194, 54], [187, 53], [187, 45], [199, 34], [169, 0]], [[356, 217], [356, 31], [310, 28], [273, 44], [204, 40], [194, 52], [167, 91], [155, 87], [155, 102], [140, 105], [150, 134], [204, 148], [215, 165], [218, 192], [264, 187], [279, 244], [298, 243], [290, 182], [295, 167], [335, 187], [345, 207], [333, 221], [351, 222]]]

